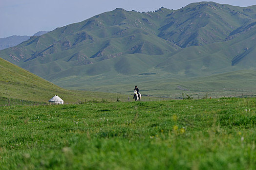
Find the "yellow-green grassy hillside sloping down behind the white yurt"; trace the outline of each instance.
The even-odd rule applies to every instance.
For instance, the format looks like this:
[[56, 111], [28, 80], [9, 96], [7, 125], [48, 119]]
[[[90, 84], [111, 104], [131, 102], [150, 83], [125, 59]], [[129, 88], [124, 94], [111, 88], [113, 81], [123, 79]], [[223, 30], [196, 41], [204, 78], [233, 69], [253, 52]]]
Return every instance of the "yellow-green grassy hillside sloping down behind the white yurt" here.
[[[78, 100], [102, 101], [116, 99], [116, 94], [88, 91], [66, 90], [54, 85], [14, 64], [0, 58], [0, 105], [1, 99], [18, 99], [32, 102], [48, 102], [54, 95], [59, 95], [64, 101], [75, 103]], [[127, 96], [118, 95], [121, 100]]]

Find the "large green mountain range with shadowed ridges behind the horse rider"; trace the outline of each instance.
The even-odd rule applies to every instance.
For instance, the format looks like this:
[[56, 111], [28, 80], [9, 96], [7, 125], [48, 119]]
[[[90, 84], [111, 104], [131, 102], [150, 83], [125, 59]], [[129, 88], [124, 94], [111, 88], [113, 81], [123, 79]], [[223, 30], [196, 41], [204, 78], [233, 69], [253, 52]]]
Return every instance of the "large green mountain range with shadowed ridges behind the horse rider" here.
[[147, 13], [117, 8], [32, 36], [0, 57], [65, 88], [116, 92], [254, 70], [255, 44], [256, 5], [197, 2]]

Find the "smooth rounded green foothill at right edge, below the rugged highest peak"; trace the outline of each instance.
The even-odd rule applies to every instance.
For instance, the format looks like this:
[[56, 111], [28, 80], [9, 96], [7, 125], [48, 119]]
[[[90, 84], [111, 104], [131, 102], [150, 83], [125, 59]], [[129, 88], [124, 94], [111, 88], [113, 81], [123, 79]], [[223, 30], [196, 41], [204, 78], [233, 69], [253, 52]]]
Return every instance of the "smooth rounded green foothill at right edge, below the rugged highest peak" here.
[[173, 52], [156, 68], [195, 77], [240, 69], [255, 69], [256, 28], [231, 40], [205, 46], [192, 46]]

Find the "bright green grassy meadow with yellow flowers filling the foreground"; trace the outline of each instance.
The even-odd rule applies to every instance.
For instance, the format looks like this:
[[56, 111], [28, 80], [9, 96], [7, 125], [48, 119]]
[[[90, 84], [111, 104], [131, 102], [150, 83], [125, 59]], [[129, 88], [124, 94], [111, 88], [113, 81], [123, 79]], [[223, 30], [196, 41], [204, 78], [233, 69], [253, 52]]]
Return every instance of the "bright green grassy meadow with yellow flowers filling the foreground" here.
[[0, 107], [0, 169], [253, 170], [256, 99]]

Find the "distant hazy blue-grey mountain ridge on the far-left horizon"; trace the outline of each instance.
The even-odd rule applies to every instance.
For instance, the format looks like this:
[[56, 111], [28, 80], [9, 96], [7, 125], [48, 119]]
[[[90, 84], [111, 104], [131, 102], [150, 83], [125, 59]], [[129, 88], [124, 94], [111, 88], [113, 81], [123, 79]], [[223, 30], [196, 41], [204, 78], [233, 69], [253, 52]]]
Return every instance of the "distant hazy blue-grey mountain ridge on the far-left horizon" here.
[[[34, 34], [33, 36], [41, 36], [43, 34], [48, 33], [48, 31], [40, 31]], [[27, 35], [12, 35], [8, 36], [6, 38], [0, 38], [0, 50], [7, 49], [9, 47], [17, 46], [18, 44], [22, 43], [23, 41], [26, 41], [30, 38], [30, 36]]]

